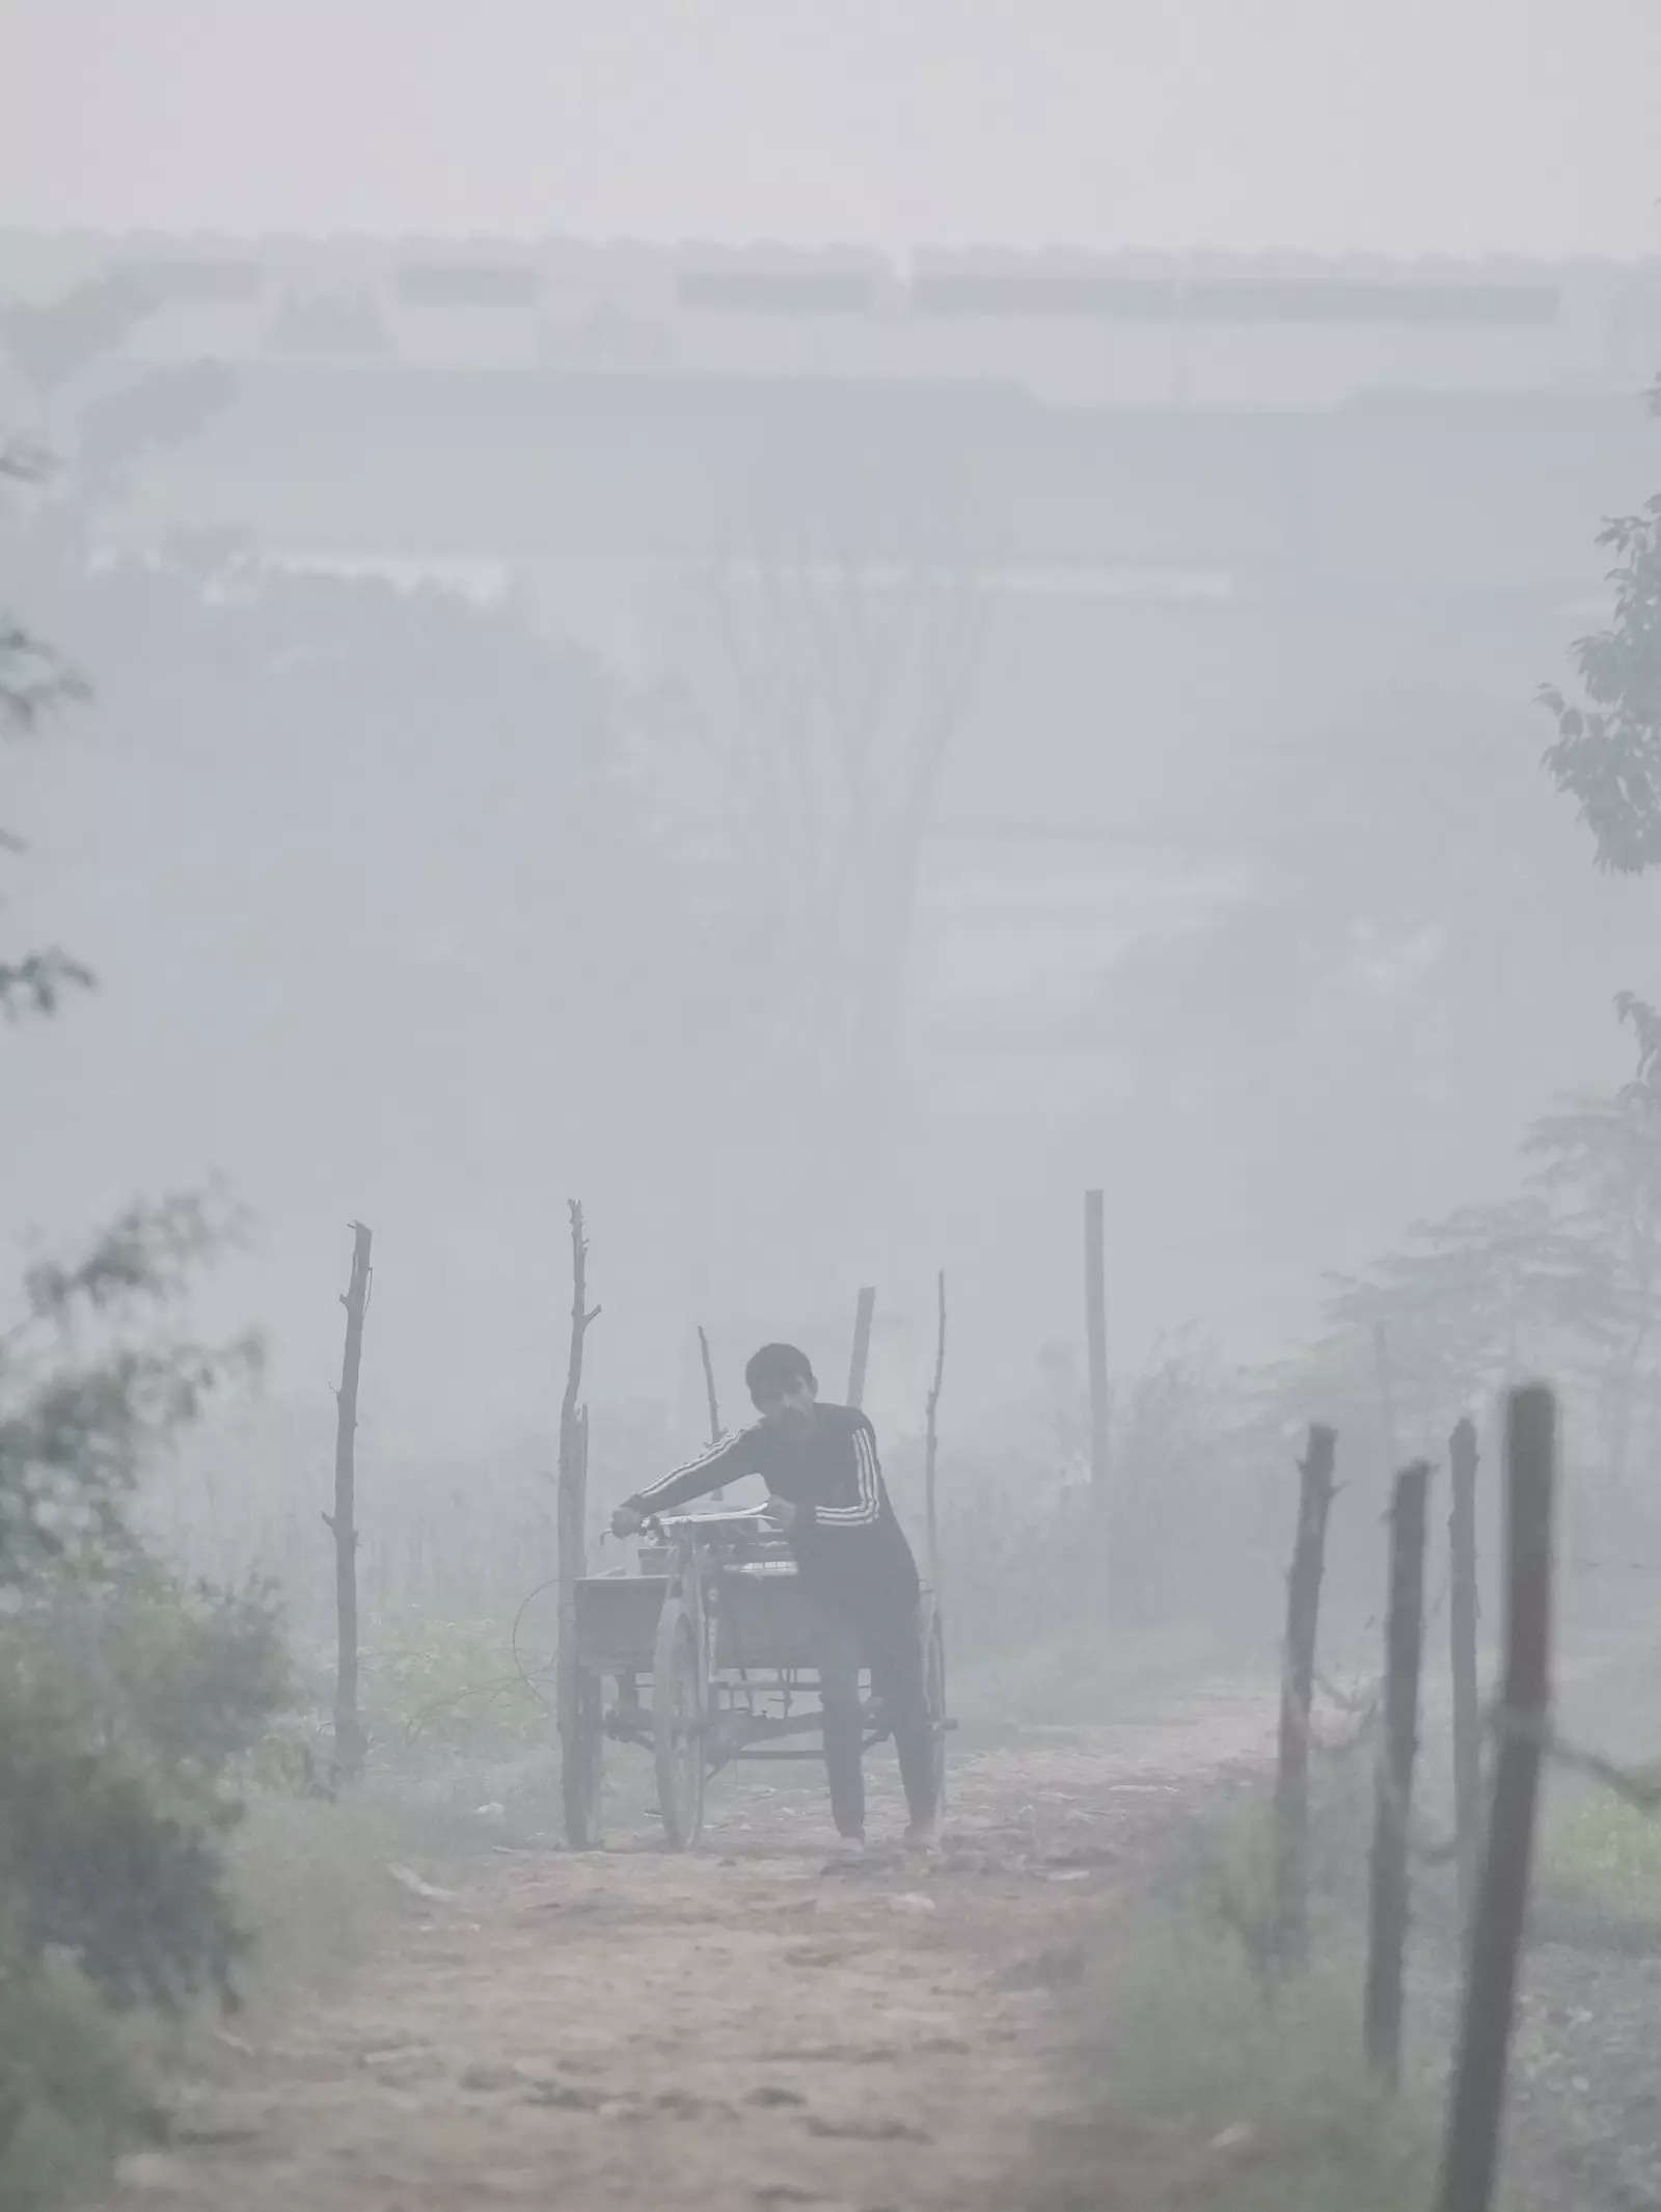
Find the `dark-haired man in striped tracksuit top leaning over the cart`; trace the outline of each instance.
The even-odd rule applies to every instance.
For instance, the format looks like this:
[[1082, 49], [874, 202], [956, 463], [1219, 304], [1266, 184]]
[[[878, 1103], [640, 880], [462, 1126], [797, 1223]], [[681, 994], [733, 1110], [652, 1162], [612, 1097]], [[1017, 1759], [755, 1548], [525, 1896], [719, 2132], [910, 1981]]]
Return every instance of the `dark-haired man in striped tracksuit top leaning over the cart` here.
[[876, 1431], [858, 1407], [818, 1405], [814, 1369], [794, 1345], [763, 1345], [743, 1380], [761, 1418], [624, 1500], [610, 1517], [613, 1535], [633, 1535], [648, 1513], [761, 1475], [767, 1517], [790, 1535], [814, 1613], [825, 1772], [843, 1849], [865, 1849], [860, 1663], [871, 1668], [871, 1690], [894, 1728], [911, 1816], [905, 1838], [929, 1849], [938, 1807], [918, 1568], [889, 1504]]

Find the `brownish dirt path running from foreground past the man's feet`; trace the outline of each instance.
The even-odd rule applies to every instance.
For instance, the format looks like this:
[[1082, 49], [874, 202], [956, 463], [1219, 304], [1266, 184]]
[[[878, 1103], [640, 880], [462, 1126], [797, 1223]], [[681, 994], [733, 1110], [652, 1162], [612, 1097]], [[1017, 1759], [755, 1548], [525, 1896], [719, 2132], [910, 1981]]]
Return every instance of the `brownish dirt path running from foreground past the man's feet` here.
[[[953, 1770], [924, 1869], [823, 1871], [814, 1767], [703, 1847], [498, 1858], [354, 1989], [221, 2046], [106, 2212], [922, 2212], [1000, 2203], [1053, 2110], [1046, 1984], [1270, 1714], [1216, 1694]], [[756, 1770], [765, 1772], [765, 1770]], [[874, 1834], [900, 1825], [871, 1761]]]

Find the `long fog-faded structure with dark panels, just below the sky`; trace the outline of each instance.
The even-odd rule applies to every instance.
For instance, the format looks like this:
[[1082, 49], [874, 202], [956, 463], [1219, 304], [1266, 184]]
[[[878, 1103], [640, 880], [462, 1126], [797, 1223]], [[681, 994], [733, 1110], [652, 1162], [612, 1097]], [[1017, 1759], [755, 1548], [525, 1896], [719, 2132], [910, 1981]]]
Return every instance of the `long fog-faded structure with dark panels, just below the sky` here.
[[0, 294], [130, 270], [146, 358], [991, 380], [1057, 407], [1320, 409], [1380, 392], [1619, 392], [1661, 263], [1188, 259], [568, 239], [0, 232]]

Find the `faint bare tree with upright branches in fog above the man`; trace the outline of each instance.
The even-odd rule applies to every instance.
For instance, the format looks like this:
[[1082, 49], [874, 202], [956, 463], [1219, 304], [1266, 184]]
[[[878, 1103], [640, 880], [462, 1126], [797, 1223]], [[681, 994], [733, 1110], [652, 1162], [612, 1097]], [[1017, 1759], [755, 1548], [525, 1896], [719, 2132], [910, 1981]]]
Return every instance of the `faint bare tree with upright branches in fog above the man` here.
[[[694, 608], [710, 710], [688, 805], [710, 814], [732, 958], [770, 1006], [763, 1130], [836, 1128], [825, 1221], [887, 1221], [922, 852], [984, 659], [986, 518], [927, 438], [770, 445]], [[759, 973], [754, 964], [759, 962]]]

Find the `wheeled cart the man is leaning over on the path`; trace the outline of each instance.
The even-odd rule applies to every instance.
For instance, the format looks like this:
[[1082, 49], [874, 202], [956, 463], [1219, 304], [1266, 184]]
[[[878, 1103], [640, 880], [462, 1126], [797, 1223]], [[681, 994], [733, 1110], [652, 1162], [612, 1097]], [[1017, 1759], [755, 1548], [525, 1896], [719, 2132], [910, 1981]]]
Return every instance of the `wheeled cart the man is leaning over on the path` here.
[[[936, 1787], [944, 1803], [947, 1655], [940, 1606], [918, 1606], [933, 1721]], [[608, 1688], [610, 1686], [610, 1688]], [[599, 1843], [604, 1745], [637, 1743], [657, 1763], [657, 1805], [672, 1849], [697, 1843], [703, 1785], [734, 1759], [818, 1759], [812, 1619], [796, 1562], [759, 1511], [648, 1520], [639, 1568], [575, 1586], [575, 1681], [566, 1712], [566, 1832]], [[865, 1747], [889, 1734], [860, 1674]]]

